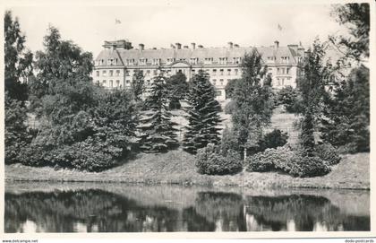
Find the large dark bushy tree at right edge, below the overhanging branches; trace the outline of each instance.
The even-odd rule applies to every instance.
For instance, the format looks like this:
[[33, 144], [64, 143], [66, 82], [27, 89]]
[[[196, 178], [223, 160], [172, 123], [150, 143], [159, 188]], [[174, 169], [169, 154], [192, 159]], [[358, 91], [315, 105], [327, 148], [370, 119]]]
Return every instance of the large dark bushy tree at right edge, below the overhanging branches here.
[[370, 70], [361, 65], [325, 100], [321, 138], [348, 152], [370, 150]]

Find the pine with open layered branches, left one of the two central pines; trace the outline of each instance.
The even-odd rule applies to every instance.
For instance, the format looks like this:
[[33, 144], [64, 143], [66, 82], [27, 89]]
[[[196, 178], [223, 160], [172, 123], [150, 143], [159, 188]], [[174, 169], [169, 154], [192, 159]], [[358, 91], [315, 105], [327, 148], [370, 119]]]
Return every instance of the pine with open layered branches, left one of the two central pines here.
[[172, 114], [169, 108], [166, 77], [159, 70], [150, 87], [150, 96], [145, 100], [145, 110], [140, 118], [140, 148], [144, 152], [167, 152], [177, 147]]

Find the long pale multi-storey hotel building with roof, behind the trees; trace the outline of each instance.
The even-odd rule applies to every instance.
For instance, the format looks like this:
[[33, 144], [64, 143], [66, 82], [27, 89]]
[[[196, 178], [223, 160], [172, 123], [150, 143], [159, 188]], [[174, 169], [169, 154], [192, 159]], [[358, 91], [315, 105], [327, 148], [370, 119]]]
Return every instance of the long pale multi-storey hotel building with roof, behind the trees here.
[[171, 48], [132, 48], [127, 40], [105, 41], [103, 50], [95, 60], [93, 81], [106, 88], [127, 88], [131, 86], [132, 75], [136, 70], [144, 74], [150, 84], [158, 74], [158, 68], [167, 76], [182, 72], [187, 79], [203, 69], [210, 75], [210, 82], [216, 87], [217, 100], [226, 100], [225, 86], [231, 79], [241, 77], [240, 64], [245, 53], [256, 50], [261, 54], [264, 65], [272, 77], [272, 87], [280, 89], [286, 85], [296, 86], [296, 78], [302, 73], [304, 48], [299, 45], [279, 47], [275, 41], [271, 47], [239, 47], [228, 42], [222, 48], [204, 48], [191, 43], [180, 43]]

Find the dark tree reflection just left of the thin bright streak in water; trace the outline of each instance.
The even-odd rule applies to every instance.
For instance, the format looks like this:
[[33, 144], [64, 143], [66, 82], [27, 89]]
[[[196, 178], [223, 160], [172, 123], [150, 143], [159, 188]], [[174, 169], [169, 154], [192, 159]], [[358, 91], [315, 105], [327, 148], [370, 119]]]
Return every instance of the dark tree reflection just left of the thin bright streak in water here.
[[216, 224], [220, 231], [245, 231], [242, 195], [201, 192], [195, 201], [195, 212]]

